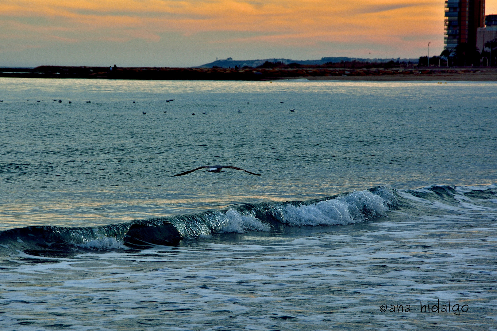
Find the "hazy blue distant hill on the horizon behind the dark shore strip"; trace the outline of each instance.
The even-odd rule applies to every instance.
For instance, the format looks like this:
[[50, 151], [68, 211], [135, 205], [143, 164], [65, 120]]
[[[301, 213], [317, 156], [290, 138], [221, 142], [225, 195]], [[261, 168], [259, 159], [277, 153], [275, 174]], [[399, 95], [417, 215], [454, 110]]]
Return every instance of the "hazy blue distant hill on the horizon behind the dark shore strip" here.
[[216, 60], [211, 63], [206, 63], [202, 66], [196, 66], [196, 68], [212, 68], [213, 66], [217, 66], [220, 68], [229, 68], [229, 67], [244, 67], [250, 66], [255, 68], [257, 66], [262, 65], [264, 62], [281, 62], [286, 65], [291, 63], [298, 63], [299, 65], [307, 65], [307, 66], [316, 66], [316, 65], [324, 65], [325, 63], [339, 63], [339, 62], [370, 62], [370, 63], [387, 63], [390, 61], [394, 62], [405, 62], [405, 63], [418, 63], [419, 59], [361, 59], [361, 58], [347, 58], [347, 57], [326, 57], [321, 58], [321, 60], [290, 60], [290, 59], [263, 59], [263, 60], [233, 60], [233, 58], [228, 58], [226, 60]]

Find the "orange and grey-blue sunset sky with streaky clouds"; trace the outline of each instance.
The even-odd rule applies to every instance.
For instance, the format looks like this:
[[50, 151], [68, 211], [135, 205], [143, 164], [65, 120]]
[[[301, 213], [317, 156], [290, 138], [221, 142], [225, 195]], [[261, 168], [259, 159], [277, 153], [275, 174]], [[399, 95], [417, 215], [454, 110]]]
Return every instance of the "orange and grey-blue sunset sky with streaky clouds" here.
[[0, 66], [417, 58], [443, 19], [444, 0], [1, 0]]

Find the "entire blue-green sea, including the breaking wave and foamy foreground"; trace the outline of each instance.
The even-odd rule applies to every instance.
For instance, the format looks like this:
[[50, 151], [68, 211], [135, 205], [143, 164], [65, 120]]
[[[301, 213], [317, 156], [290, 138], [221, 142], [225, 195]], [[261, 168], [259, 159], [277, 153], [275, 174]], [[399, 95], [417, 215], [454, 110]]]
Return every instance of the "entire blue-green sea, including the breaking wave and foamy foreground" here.
[[0, 330], [497, 330], [496, 82], [0, 100]]

